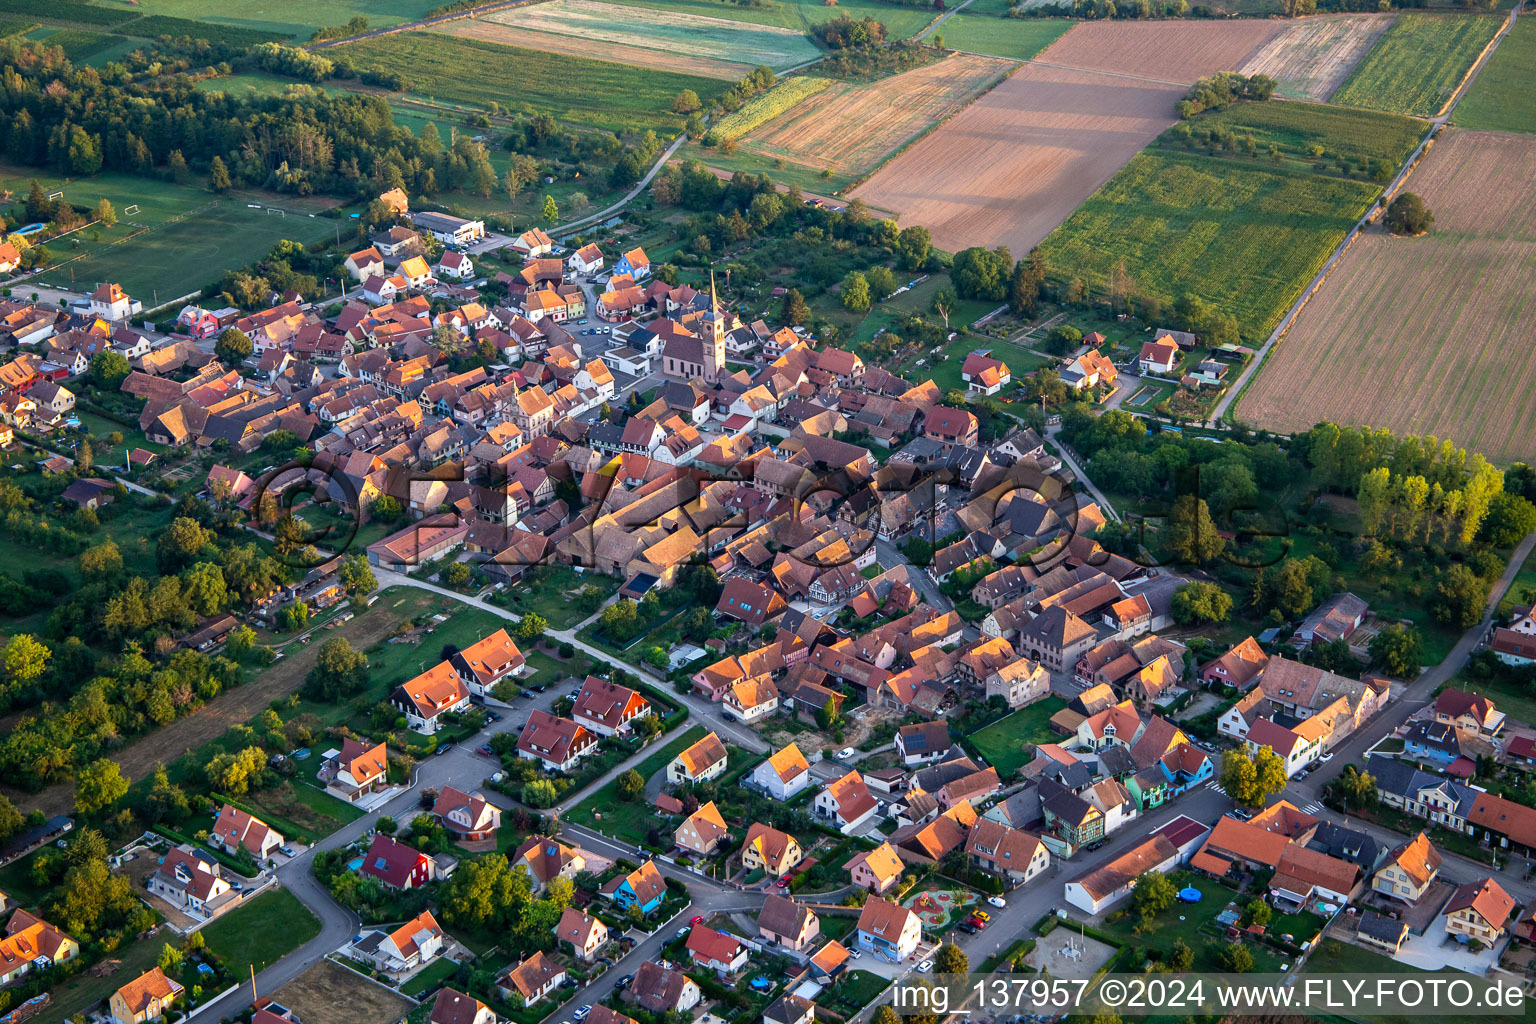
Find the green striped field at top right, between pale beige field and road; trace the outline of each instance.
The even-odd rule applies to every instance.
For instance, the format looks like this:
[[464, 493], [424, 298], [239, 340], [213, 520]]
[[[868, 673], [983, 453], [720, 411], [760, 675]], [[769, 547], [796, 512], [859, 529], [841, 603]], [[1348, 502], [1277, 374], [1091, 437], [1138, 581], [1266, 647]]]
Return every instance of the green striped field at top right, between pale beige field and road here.
[[1498, 14], [1399, 14], [1332, 101], [1439, 114], [1502, 23]]

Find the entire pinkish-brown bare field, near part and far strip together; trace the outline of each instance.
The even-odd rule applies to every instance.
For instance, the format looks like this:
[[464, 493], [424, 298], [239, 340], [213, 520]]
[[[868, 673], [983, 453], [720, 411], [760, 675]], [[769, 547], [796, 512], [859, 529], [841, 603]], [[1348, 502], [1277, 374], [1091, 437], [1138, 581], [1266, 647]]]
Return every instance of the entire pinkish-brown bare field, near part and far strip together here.
[[1181, 83], [1240, 66], [1276, 31], [1253, 20], [1077, 25], [852, 195], [928, 227], [940, 249], [1021, 255], [1174, 123]]

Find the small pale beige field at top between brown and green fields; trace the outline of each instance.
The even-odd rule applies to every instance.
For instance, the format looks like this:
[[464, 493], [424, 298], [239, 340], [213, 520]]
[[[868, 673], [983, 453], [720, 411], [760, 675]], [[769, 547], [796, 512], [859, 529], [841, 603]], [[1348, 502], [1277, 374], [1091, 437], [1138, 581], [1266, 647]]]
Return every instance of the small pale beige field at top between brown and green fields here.
[[1246, 75], [1269, 75], [1279, 95], [1327, 100], [1344, 84], [1376, 40], [1392, 26], [1390, 14], [1333, 14], [1296, 18], [1246, 64]]

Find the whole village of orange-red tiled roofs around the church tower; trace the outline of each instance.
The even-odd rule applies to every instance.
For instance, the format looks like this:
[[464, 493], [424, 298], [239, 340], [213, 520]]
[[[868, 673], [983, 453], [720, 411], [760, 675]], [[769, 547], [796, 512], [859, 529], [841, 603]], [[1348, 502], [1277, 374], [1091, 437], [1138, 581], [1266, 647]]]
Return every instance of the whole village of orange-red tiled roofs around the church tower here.
[[[1218, 643], [1181, 611], [1209, 577], [1100, 543], [1121, 516], [1060, 424], [983, 430], [969, 399], [1014, 384], [989, 350], [946, 393], [743, 318], [713, 276], [667, 284], [641, 247], [379, 201], [398, 223], [346, 256], [329, 310], [186, 306], [160, 336], [111, 282], [0, 306], [0, 441], [72, 474], [66, 507], [175, 485], [263, 539], [300, 524], [287, 583], [177, 646], [319, 636], [375, 588], [505, 622], [318, 740], [303, 771], [344, 827], [284, 835], [214, 800], [114, 854], [189, 952], [84, 1019], [298, 1024], [284, 992], [321, 978], [430, 1024], [862, 1022], [912, 975], [1146, 961], [1528, 984], [1536, 811], [1504, 794], [1536, 728], [1376, 671], [1395, 620], [1366, 599]], [[1060, 379], [1114, 408], [1121, 370], [1174, 379], [1195, 348], [1157, 335], [1120, 368], [1084, 339]], [[1197, 356], [1181, 384], [1227, 365]], [[124, 416], [95, 476], [71, 385]], [[1536, 663], [1528, 605], [1473, 633]], [[200, 958], [192, 936], [276, 889], [319, 938], [272, 976]], [[80, 938], [14, 910], [0, 983]]]

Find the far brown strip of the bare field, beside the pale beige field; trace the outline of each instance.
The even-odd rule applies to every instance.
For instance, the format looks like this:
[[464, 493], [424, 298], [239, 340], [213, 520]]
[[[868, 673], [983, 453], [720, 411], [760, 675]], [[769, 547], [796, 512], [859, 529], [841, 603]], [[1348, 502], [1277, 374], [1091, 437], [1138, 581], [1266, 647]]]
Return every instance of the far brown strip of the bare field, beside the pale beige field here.
[[1276, 21], [1081, 21], [1035, 58], [1192, 84], [1201, 75], [1236, 71], [1281, 29]]

